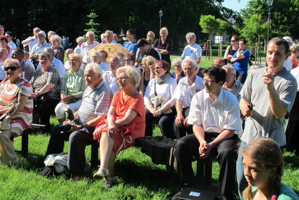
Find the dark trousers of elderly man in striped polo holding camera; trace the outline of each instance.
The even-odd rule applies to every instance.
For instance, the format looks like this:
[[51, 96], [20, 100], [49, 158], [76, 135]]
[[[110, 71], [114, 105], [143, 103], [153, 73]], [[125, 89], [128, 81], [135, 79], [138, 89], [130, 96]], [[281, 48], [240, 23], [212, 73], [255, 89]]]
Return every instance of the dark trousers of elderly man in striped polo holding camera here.
[[[78, 120], [76, 124], [80, 125]], [[85, 147], [91, 145], [95, 127], [89, 126], [75, 132], [60, 133], [61, 125], [62, 123], [57, 124], [53, 128], [46, 156], [61, 153], [63, 151], [64, 141], [69, 141], [67, 167], [72, 174], [83, 175], [86, 164]]]

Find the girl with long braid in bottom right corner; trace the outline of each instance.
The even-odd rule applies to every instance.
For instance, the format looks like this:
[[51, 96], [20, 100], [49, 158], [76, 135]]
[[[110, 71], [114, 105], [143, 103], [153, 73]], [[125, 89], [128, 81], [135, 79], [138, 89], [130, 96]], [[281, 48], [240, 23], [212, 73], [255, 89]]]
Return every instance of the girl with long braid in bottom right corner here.
[[251, 141], [243, 152], [244, 175], [248, 187], [245, 200], [299, 200], [295, 192], [282, 184], [283, 156], [278, 144], [266, 137]]

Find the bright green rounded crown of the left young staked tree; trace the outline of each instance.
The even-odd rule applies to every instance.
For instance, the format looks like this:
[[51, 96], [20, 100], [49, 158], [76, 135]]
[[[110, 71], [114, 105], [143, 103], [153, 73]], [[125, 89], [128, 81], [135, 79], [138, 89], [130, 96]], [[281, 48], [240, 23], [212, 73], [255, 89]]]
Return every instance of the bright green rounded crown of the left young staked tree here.
[[209, 34], [209, 40], [210, 35], [216, 33], [219, 28], [219, 22], [215, 19], [215, 16], [212, 15], [202, 15], [200, 17], [199, 25], [202, 27], [203, 33]]

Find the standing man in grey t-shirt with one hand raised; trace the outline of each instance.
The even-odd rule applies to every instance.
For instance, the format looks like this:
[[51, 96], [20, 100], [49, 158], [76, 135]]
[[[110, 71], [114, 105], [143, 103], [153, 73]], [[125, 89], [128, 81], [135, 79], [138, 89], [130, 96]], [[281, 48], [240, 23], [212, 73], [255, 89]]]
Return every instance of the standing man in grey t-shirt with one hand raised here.
[[[282, 38], [271, 39], [267, 47], [268, 67], [251, 72], [240, 91], [239, 106], [247, 120], [239, 152], [254, 138], [262, 136], [274, 139], [281, 149], [286, 144], [284, 116], [290, 112], [297, 90], [295, 77], [283, 67], [288, 57], [288, 42]], [[252, 111], [249, 108], [251, 102]], [[243, 190], [248, 186], [242, 161], [243, 156], [239, 154], [237, 181], [241, 199]]]

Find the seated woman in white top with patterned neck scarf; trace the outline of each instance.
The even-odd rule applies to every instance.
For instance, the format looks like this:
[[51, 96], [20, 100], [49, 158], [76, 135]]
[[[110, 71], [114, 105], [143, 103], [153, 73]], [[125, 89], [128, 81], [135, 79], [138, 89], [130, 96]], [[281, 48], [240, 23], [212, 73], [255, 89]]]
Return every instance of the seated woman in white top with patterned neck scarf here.
[[152, 136], [152, 121], [158, 118], [162, 135], [174, 138], [172, 127], [176, 113], [171, 108], [176, 103], [172, 97], [178, 84], [170, 77], [169, 70], [170, 65], [165, 60], [158, 60], [154, 64], [156, 76], [149, 81], [144, 94], [145, 136]]

